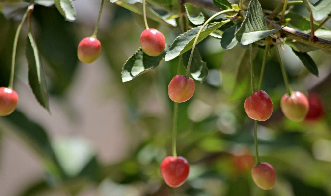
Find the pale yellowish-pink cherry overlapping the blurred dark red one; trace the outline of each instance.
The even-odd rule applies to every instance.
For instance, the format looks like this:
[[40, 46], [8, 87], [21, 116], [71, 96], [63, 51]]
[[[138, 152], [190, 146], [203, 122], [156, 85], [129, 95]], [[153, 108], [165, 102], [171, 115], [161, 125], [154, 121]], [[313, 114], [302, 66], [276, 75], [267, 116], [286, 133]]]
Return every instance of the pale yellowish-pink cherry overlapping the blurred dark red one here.
[[290, 120], [301, 122], [309, 110], [307, 97], [299, 91], [294, 91], [291, 96], [284, 94], [280, 101], [283, 114]]

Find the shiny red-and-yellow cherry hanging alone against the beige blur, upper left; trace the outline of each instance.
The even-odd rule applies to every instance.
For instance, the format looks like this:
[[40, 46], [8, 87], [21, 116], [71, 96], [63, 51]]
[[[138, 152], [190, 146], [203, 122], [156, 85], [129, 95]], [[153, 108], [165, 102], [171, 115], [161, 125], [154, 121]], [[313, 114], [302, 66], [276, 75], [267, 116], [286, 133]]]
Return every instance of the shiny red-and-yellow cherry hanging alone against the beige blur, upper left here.
[[97, 38], [85, 37], [78, 45], [77, 56], [83, 63], [91, 63], [99, 58], [101, 43]]

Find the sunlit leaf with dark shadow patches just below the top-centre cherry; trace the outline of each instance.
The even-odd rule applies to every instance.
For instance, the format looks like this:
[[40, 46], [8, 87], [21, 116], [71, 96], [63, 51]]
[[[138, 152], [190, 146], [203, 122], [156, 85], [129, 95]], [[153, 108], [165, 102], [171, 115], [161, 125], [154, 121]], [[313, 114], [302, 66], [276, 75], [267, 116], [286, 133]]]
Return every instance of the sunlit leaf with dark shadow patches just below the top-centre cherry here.
[[124, 64], [122, 69], [122, 81], [130, 81], [137, 76], [145, 73], [150, 69], [154, 69], [160, 63], [160, 61], [165, 57], [167, 47], [163, 53], [159, 56], [148, 56], [146, 55], [141, 48], [139, 48], [136, 53], [131, 56]]

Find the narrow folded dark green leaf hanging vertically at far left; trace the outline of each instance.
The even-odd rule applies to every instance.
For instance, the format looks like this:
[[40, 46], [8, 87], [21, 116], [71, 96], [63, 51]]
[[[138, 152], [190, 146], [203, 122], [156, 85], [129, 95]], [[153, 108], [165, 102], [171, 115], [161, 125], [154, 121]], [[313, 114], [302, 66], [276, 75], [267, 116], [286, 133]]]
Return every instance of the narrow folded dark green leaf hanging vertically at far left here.
[[50, 112], [45, 74], [31, 29], [28, 31], [26, 40], [26, 56], [29, 68], [29, 84], [33, 94], [38, 102]]

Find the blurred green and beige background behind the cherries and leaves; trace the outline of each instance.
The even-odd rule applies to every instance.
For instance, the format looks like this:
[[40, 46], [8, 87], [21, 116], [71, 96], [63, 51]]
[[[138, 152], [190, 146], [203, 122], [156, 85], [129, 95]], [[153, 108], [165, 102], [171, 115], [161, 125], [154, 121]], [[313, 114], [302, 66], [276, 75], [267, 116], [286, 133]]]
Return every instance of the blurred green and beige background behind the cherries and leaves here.
[[[281, 0], [260, 2], [272, 10]], [[268, 56], [262, 89], [272, 98], [274, 112], [259, 123], [259, 154], [275, 168], [277, 181], [265, 191], [250, 176], [254, 121], [243, 107], [251, 94], [250, 77], [238, 71], [249, 65], [248, 50], [225, 51], [212, 37], [199, 43], [209, 76], [202, 84], [195, 81], [195, 93], [179, 104], [178, 118], [177, 154], [189, 161], [190, 175], [181, 187], [170, 188], [159, 167], [171, 154], [173, 102], [167, 85], [176, 75], [178, 58], [122, 83], [122, 66], [139, 48], [144, 25], [140, 15], [106, 0], [98, 32], [102, 54], [91, 64], [79, 62], [77, 45], [92, 35], [100, 3], [73, 1], [75, 22], [65, 21], [55, 6], [35, 6], [33, 33], [51, 115], [28, 84], [28, 27], [23, 26], [14, 82], [19, 103], [14, 113], [0, 117], [0, 196], [331, 196], [330, 52], [309, 52], [319, 68], [316, 77], [289, 47], [281, 51], [292, 88], [315, 104], [312, 117], [300, 123], [280, 111], [286, 89], [276, 47]], [[0, 85], [7, 86], [14, 34], [28, 3], [0, 5]], [[206, 18], [215, 13], [189, 8]], [[292, 11], [308, 16], [301, 5]], [[178, 25], [148, 22], [168, 45], [181, 34]], [[331, 28], [331, 22], [325, 27]], [[255, 51], [257, 84], [264, 50]]]

